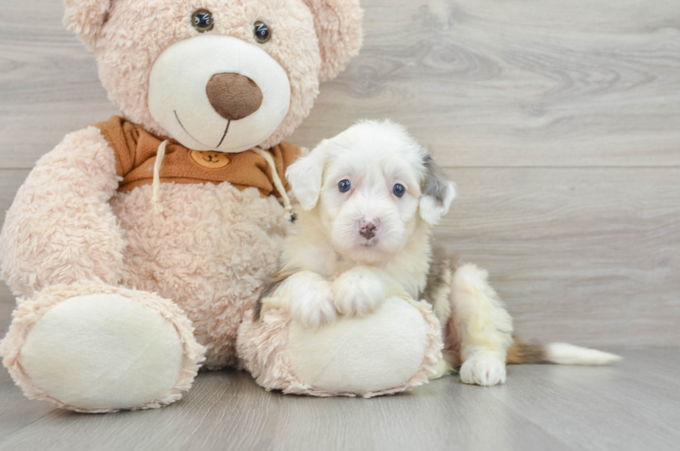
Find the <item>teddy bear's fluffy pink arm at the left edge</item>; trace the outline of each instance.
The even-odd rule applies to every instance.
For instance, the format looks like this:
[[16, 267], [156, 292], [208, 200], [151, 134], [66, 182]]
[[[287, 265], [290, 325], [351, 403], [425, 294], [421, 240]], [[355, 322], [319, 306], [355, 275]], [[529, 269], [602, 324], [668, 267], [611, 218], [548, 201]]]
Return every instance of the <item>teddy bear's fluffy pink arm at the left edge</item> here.
[[124, 240], [108, 201], [119, 180], [114, 151], [95, 127], [38, 160], [0, 233], [3, 279], [17, 296], [81, 279], [117, 282]]

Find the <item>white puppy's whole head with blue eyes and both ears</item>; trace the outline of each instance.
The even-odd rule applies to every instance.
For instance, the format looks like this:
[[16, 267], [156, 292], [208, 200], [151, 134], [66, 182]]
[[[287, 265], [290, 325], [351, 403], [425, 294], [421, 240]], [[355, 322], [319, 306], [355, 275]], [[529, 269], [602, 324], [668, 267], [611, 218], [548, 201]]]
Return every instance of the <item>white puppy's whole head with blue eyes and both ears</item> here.
[[455, 197], [427, 151], [390, 121], [360, 122], [326, 139], [286, 176], [333, 247], [364, 262], [399, 252], [422, 221], [439, 223]]

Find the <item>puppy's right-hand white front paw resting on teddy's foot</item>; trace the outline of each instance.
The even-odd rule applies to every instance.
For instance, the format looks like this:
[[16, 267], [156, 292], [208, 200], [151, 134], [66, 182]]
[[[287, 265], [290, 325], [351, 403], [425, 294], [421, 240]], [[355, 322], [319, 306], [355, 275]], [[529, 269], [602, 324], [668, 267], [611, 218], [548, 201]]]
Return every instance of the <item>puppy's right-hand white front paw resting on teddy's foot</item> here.
[[333, 302], [343, 315], [365, 315], [385, 299], [382, 280], [366, 268], [346, 271], [333, 282]]

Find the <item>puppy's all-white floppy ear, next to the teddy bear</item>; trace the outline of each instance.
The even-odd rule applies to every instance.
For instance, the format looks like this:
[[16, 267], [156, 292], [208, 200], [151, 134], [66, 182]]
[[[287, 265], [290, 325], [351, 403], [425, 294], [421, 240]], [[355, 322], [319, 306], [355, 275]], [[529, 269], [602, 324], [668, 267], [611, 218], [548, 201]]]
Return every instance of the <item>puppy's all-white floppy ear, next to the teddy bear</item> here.
[[316, 207], [321, 193], [325, 152], [320, 147], [321, 145], [317, 146], [306, 157], [298, 158], [286, 170], [288, 184], [303, 210]]

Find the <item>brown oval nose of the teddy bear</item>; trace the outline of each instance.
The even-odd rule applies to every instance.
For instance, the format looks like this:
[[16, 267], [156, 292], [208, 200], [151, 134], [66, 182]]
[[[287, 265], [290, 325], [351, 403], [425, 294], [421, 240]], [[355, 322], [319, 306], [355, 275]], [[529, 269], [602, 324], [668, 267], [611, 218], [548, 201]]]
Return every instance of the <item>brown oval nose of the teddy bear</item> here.
[[241, 74], [214, 74], [205, 86], [210, 105], [224, 119], [237, 121], [250, 116], [262, 105], [262, 91]]

